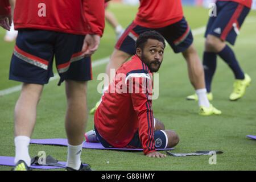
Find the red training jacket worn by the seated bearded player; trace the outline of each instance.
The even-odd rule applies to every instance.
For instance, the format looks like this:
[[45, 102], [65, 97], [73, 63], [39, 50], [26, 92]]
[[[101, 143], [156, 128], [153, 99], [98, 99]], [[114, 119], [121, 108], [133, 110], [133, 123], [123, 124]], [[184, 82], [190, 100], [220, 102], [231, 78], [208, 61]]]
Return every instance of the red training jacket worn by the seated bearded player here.
[[[133, 92], [123, 91], [129, 88]], [[98, 133], [113, 147], [129, 147], [127, 144], [139, 131], [144, 154], [155, 151], [152, 92], [148, 90], [152, 90], [152, 74], [138, 56], [133, 56], [117, 70], [94, 115]]]

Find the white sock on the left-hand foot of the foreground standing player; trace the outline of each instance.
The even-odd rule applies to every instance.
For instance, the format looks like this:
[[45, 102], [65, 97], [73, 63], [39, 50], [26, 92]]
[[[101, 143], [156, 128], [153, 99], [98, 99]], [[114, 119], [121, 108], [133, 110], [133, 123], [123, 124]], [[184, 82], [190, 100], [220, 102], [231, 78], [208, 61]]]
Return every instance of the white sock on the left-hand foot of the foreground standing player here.
[[31, 165], [30, 154], [28, 154], [28, 145], [30, 144], [30, 138], [26, 136], [18, 136], [14, 138], [15, 143], [15, 159], [16, 164], [19, 160], [24, 160], [27, 166]]

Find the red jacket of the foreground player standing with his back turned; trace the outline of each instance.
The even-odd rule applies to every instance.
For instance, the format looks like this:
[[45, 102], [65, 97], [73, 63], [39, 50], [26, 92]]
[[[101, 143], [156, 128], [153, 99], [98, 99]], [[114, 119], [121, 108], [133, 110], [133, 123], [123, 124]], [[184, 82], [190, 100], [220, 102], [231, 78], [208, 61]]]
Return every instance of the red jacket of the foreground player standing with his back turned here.
[[[0, 15], [10, 13], [8, 0], [0, 0]], [[102, 36], [104, 0], [16, 0], [14, 26]]]

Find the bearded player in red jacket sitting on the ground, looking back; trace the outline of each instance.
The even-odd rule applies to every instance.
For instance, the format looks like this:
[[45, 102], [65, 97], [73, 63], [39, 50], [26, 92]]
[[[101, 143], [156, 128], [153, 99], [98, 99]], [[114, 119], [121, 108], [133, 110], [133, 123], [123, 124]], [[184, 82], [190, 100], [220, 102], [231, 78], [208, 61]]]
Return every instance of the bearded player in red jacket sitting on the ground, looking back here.
[[[166, 155], [157, 152], [156, 148], [171, 148], [179, 143], [177, 134], [165, 130], [152, 110], [152, 73], [158, 72], [162, 64], [165, 46], [158, 32], [144, 32], [137, 39], [136, 55], [117, 70], [115, 80], [102, 96], [94, 115], [94, 129], [104, 147], [143, 148], [144, 155], [163, 158]], [[112, 88], [122, 93], [112, 93]], [[88, 134], [92, 133], [86, 133], [85, 138], [90, 138]]]

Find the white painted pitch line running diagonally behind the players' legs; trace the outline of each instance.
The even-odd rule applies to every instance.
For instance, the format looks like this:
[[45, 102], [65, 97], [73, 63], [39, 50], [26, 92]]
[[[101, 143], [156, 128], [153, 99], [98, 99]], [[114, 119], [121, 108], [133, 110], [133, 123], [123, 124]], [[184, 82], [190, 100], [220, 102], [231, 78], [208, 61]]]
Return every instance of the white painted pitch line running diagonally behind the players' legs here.
[[[201, 35], [201, 34], [204, 33], [204, 31], [205, 31], [205, 26], [196, 28], [195, 30], [192, 30], [192, 34], [193, 34], [193, 36]], [[108, 61], [109, 61], [109, 57], [105, 57], [103, 59], [93, 61], [92, 62], [92, 68], [96, 68], [100, 65], [108, 63]], [[51, 77], [49, 79], [49, 81], [57, 80], [59, 78], [60, 78], [59, 75], [57, 75], [57, 73], [55, 73], [55, 76]], [[8, 89], [0, 90], [0, 97], [9, 95], [9, 94], [14, 93], [14, 92], [19, 92], [21, 90], [21, 88], [22, 88], [22, 85], [18, 85], [18, 86], [13, 86], [13, 87], [8, 88]]]

